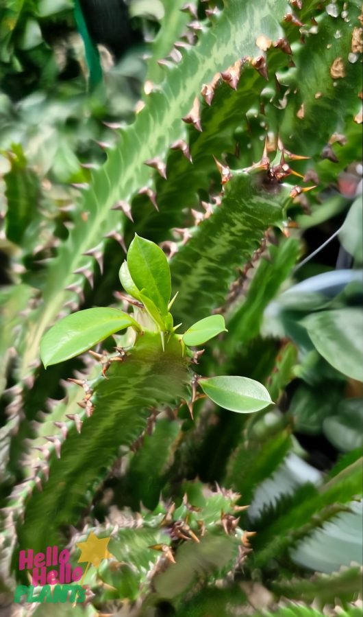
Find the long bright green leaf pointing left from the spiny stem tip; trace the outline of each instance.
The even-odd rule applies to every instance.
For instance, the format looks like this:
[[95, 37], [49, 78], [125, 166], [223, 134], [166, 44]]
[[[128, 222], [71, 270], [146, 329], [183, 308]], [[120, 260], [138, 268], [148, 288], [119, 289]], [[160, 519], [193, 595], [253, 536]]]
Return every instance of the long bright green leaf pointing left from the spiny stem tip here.
[[134, 326], [132, 317], [114, 308], [92, 308], [68, 315], [47, 331], [40, 343], [40, 356], [47, 368], [78, 356], [119, 330]]

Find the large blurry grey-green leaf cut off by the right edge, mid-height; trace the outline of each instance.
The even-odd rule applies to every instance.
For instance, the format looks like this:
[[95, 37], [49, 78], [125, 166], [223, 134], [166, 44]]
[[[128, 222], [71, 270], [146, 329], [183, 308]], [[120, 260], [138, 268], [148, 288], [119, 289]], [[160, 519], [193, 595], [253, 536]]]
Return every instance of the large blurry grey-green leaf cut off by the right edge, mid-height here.
[[309, 315], [302, 321], [318, 352], [334, 369], [363, 381], [362, 310], [347, 307]]

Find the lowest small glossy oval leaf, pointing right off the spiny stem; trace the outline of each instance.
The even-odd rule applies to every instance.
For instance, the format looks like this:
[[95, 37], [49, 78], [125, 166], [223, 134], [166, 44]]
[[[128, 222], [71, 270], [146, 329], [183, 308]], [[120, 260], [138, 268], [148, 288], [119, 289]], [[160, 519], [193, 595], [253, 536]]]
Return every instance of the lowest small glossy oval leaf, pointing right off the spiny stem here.
[[199, 384], [214, 403], [238, 413], [259, 411], [273, 402], [266, 388], [249, 377], [209, 377], [199, 380]]

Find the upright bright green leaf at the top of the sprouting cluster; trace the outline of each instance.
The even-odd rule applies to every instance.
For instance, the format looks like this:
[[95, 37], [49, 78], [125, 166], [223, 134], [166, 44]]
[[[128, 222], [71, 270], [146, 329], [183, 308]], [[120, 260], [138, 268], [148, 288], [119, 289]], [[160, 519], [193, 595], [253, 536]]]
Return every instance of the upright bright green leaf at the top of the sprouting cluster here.
[[171, 274], [162, 249], [135, 234], [127, 253], [127, 266], [136, 287], [144, 290], [162, 315], [168, 312]]

